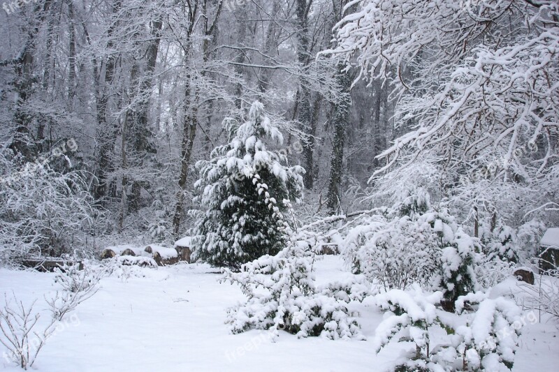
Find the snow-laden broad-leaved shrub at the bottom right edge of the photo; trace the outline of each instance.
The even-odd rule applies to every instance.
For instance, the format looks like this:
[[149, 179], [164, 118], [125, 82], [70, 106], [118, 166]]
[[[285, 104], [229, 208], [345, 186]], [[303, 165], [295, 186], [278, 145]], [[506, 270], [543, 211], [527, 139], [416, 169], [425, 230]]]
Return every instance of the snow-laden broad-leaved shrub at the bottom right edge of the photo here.
[[449, 314], [436, 307], [441, 299], [442, 292], [423, 292], [417, 285], [375, 296], [386, 311], [375, 350], [391, 342], [413, 346], [392, 371], [510, 371], [522, 325], [518, 306], [478, 292], [460, 297], [458, 313]]

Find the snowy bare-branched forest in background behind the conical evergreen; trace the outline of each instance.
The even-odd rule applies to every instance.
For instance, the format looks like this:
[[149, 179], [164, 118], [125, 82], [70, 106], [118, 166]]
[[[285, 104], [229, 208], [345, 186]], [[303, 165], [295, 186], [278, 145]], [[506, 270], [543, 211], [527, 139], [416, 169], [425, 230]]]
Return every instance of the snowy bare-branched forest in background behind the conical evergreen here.
[[379, 4], [3, 3], [3, 262], [189, 235], [195, 165], [254, 101], [306, 170], [298, 220], [447, 208], [533, 257], [559, 222], [557, 3]]

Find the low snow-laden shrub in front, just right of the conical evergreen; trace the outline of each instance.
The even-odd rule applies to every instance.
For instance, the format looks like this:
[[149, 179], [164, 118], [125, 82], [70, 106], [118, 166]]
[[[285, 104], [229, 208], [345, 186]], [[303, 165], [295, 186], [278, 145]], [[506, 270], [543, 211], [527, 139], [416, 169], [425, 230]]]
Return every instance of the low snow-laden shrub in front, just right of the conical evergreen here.
[[228, 311], [233, 333], [269, 329], [298, 337], [363, 338], [347, 305], [363, 300], [366, 285], [331, 283], [317, 288], [312, 274], [313, 254], [303, 242], [291, 241], [275, 256], [265, 255], [234, 273], [225, 269], [224, 281], [240, 285], [247, 302]]

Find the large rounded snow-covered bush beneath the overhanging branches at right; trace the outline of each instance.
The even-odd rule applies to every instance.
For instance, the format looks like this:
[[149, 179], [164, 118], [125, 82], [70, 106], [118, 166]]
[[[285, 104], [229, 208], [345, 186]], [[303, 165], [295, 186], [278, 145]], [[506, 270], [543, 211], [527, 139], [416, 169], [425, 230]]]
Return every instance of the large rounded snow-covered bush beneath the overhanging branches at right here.
[[474, 290], [479, 243], [446, 208], [428, 209], [428, 194], [409, 195], [383, 215], [365, 216], [344, 242], [344, 258], [384, 290], [435, 286], [453, 303]]

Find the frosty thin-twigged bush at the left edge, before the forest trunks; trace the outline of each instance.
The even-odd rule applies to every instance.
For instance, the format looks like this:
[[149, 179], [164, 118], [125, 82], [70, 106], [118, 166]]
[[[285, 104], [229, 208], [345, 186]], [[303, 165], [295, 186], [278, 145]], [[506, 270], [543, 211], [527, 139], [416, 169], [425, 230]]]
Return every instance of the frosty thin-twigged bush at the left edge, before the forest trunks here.
[[29, 253], [61, 255], [91, 222], [92, 198], [80, 172], [6, 159], [0, 151], [0, 262]]

